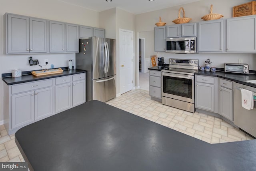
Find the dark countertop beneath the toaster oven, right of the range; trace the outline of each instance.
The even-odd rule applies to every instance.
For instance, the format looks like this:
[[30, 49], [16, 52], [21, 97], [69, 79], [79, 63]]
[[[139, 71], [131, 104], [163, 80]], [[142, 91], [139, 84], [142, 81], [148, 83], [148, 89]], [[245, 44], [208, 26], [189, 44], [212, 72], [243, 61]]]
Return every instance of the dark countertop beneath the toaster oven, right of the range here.
[[195, 72], [195, 75], [214, 76], [214, 77], [230, 80], [236, 83], [248, 85], [251, 87], [256, 87], [256, 84], [245, 82], [246, 80], [256, 80], [256, 74], [232, 74], [232, 73], [225, 73], [222, 71], [210, 72], [210, 71], [198, 70], [198, 72]]

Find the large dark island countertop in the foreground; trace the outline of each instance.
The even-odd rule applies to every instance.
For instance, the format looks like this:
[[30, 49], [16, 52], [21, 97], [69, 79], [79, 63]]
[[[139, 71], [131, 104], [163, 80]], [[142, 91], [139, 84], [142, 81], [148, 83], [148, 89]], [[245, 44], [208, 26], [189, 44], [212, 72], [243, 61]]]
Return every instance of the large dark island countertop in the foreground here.
[[30, 171], [252, 171], [256, 140], [209, 144], [100, 101], [15, 133]]

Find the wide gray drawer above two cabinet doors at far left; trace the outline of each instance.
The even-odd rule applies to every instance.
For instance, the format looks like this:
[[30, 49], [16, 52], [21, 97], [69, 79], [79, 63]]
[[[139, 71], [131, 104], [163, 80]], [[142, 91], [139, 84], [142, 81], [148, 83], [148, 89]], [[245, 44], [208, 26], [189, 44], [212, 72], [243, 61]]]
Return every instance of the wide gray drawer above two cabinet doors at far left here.
[[25, 92], [25, 91], [31, 91], [34, 89], [40, 89], [40, 88], [44, 88], [44, 87], [50, 87], [52, 85], [53, 85], [52, 79], [39, 81], [39, 82], [30, 82], [30, 83], [22, 84], [22, 85], [14, 85], [14, 86], [12, 86], [12, 94]]

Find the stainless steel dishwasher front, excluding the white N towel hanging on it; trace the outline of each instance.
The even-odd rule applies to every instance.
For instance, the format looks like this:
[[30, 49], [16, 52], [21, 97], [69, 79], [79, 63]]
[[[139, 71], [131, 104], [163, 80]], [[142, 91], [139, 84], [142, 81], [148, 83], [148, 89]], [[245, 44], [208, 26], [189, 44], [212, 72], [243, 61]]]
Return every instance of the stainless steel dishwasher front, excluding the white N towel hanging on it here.
[[256, 95], [256, 88], [234, 83], [234, 124], [250, 135], [256, 137], [256, 101], [254, 101], [254, 109], [244, 109], [244, 107], [242, 107], [241, 97], [242, 88], [252, 91], [254, 92], [254, 95]]

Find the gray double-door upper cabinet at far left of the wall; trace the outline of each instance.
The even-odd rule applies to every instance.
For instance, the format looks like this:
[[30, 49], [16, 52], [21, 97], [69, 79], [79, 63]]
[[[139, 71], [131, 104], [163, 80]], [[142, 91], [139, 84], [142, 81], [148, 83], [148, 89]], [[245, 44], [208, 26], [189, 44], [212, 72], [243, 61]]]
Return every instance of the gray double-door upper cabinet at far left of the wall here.
[[6, 54], [47, 52], [47, 20], [5, 15]]

